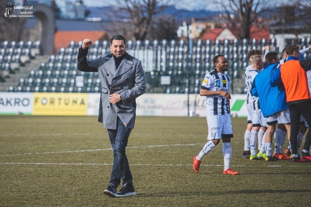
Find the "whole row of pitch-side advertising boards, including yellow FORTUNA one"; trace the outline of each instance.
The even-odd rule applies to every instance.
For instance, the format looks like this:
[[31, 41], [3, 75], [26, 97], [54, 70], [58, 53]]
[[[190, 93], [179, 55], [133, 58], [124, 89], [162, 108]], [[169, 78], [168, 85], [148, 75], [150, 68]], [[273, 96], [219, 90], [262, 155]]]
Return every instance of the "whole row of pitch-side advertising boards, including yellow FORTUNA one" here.
[[[245, 94], [231, 95], [234, 117], [246, 117]], [[136, 99], [137, 116], [188, 116], [187, 94], [144, 94]], [[97, 116], [99, 93], [0, 93], [0, 115]], [[190, 116], [205, 117], [205, 97], [189, 94]]]

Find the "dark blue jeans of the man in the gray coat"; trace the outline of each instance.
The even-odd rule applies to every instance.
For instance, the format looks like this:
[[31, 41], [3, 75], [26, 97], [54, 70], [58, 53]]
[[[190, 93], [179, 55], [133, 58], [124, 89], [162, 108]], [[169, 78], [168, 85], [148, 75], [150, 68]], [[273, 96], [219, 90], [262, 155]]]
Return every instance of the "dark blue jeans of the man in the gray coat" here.
[[120, 185], [121, 179], [123, 184], [132, 183], [133, 177], [125, 154], [125, 148], [132, 129], [124, 126], [122, 121], [117, 119], [117, 129], [108, 129], [108, 136], [113, 150], [113, 166], [109, 184], [116, 188]]

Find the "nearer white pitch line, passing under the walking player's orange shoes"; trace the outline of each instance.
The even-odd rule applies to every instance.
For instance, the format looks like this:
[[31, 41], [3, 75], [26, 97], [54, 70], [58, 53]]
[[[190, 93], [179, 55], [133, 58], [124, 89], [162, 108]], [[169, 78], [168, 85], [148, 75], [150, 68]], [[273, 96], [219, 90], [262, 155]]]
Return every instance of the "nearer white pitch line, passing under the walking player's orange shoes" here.
[[[73, 166], [111, 166], [112, 163], [47, 163], [47, 162], [3, 162], [0, 163], [0, 165], [73, 165]], [[183, 166], [192, 166], [190, 164], [130, 164], [131, 166], [160, 166], [160, 167], [183, 167]], [[223, 167], [224, 165], [201, 165], [204, 167]], [[231, 165], [232, 167], [252, 167], [248, 165]], [[261, 167], [273, 167], [273, 168], [281, 168], [281, 167], [311, 167], [311, 165], [267, 165], [267, 166], [261, 166]]]

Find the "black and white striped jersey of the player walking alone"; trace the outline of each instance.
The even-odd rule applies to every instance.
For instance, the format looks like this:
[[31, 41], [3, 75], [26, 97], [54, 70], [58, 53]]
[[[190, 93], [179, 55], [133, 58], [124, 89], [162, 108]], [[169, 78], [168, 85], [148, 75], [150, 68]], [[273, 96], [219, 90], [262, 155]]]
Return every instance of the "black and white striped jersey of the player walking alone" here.
[[[227, 74], [218, 72], [216, 69], [207, 73], [201, 85], [202, 89], [210, 91], [222, 90], [229, 92], [230, 78]], [[227, 99], [221, 95], [206, 97], [206, 114], [207, 115], [225, 115], [229, 114], [230, 109]]]

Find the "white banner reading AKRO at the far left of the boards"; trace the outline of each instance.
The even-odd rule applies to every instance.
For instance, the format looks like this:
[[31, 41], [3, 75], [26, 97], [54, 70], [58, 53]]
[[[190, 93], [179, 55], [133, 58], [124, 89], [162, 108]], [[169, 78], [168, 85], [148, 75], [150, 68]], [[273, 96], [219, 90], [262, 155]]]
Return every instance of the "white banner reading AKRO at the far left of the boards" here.
[[33, 93], [0, 92], [0, 114], [32, 114]]

